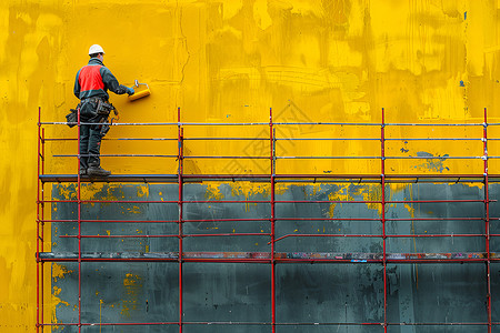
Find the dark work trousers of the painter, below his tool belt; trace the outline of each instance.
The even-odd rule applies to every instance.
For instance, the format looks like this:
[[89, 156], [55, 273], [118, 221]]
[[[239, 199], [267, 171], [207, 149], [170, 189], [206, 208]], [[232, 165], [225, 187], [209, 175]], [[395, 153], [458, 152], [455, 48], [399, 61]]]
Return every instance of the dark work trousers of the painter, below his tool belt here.
[[80, 169], [99, 167], [102, 134], [100, 124], [80, 125]]

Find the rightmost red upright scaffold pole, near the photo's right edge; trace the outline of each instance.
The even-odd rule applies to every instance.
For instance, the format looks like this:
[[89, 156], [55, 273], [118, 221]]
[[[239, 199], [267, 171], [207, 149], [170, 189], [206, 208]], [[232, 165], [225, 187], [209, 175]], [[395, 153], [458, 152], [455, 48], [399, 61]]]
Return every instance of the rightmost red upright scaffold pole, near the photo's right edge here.
[[484, 108], [484, 123], [482, 129], [483, 144], [483, 176], [484, 176], [484, 233], [487, 252], [487, 306], [488, 306], [488, 333], [491, 333], [491, 268], [490, 268], [490, 193], [488, 179], [488, 113]]

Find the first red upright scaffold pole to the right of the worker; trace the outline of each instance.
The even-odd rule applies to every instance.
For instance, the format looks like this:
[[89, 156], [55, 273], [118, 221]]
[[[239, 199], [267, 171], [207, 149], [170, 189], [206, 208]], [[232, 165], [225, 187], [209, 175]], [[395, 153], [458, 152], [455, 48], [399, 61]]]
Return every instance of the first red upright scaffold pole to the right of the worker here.
[[179, 208], [179, 333], [182, 333], [182, 188], [183, 188], [183, 180], [182, 180], [182, 172], [183, 172], [183, 129], [181, 127], [181, 113], [180, 108], [177, 108], [177, 141], [178, 141], [178, 185], [179, 185], [179, 200], [178, 200], [178, 208]]

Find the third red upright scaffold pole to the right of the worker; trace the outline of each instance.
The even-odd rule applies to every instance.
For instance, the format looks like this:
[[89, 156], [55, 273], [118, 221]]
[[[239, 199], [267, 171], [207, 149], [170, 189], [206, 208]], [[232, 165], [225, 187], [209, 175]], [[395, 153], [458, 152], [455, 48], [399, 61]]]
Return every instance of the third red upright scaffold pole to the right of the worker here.
[[386, 250], [386, 114], [382, 108], [382, 123], [380, 125], [380, 185], [381, 185], [381, 220], [383, 243], [383, 332], [387, 333], [387, 250]]

